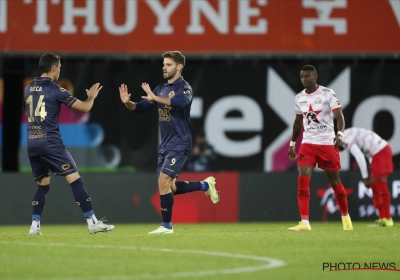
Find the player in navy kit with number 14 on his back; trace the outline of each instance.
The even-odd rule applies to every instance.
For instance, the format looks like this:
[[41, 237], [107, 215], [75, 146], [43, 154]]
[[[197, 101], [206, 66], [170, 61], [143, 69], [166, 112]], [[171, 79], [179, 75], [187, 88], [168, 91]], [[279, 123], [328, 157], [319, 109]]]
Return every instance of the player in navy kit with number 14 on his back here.
[[61, 105], [81, 112], [89, 112], [102, 86], [94, 84], [86, 90], [88, 99], [80, 101], [57, 85], [60, 76], [60, 56], [46, 53], [39, 60], [40, 77], [35, 77], [24, 90], [24, 109], [28, 117], [27, 146], [32, 174], [38, 187], [32, 202], [32, 225], [30, 235], [41, 235], [40, 219], [50, 188], [50, 174], [65, 177], [77, 205], [80, 206], [88, 224], [89, 233], [108, 232], [113, 225], [104, 224], [94, 214], [91, 198], [78, 173], [75, 161], [68, 152], [59, 132]]

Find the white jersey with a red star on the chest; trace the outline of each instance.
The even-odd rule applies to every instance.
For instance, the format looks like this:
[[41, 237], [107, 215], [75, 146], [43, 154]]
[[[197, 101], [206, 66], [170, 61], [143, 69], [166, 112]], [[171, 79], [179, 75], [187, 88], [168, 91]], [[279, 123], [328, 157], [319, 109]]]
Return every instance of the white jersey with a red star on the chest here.
[[305, 89], [295, 97], [296, 115], [303, 115], [302, 143], [333, 145], [335, 138], [333, 111], [342, 106], [332, 89], [319, 85], [312, 93]]

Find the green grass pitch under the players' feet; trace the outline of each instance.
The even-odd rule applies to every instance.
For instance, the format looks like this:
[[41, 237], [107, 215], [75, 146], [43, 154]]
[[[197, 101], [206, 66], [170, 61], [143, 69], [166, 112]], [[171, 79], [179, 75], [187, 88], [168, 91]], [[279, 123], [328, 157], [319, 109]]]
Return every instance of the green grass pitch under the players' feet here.
[[[400, 279], [400, 226], [313, 222], [175, 224], [174, 234], [147, 235], [155, 224], [115, 224], [89, 235], [79, 225], [0, 226], [0, 279]], [[396, 271], [329, 272], [324, 263], [394, 263]]]

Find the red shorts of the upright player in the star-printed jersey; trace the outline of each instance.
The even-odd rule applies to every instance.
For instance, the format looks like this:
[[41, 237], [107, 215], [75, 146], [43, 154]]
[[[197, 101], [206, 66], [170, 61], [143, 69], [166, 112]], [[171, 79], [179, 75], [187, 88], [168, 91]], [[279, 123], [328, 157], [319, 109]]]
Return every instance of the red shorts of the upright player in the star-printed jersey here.
[[327, 171], [340, 169], [339, 149], [333, 145], [301, 144], [297, 166], [318, 167]]

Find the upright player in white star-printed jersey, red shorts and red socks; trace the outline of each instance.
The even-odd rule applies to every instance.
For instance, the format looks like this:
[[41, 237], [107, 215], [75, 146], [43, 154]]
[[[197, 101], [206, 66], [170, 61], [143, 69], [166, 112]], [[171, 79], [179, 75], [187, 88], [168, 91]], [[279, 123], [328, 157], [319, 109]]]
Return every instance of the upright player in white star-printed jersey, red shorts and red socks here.
[[[309, 222], [310, 181], [315, 166], [325, 169], [329, 183], [342, 214], [343, 230], [353, 230], [348, 212], [347, 195], [339, 178], [342, 136], [345, 127], [342, 107], [332, 89], [317, 84], [317, 69], [305, 65], [300, 71], [304, 90], [295, 97], [296, 119], [293, 123], [292, 141], [288, 156], [297, 159], [299, 170], [297, 202], [301, 222], [290, 227], [290, 231], [311, 230]], [[335, 135], [333, 117], [337, 120], [338, 133]], [[304, 127], [303, 141], [299, 154], [295, 152], [296, 139]]]

